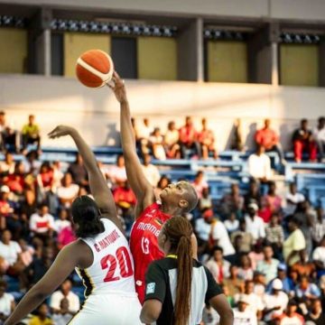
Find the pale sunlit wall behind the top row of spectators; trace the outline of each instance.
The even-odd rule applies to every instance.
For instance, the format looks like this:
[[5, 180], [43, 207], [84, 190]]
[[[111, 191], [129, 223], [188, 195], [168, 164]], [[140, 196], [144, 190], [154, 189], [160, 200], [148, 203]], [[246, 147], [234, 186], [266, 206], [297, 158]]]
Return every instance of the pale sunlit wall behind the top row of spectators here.
[[[248, 147], [256, 127], [271, 117], [287, 148], [292, 130], [302, 117], [314, 125], [317, 117], [324, 115], [325, 92], [321, 88], [144, 80], [126, 80], [126, 86], [137, 119], [149, 116], [152, 125], [160, 125], [164, 131], [170, 120], [181, 125], [184, 116], [190, 115], [200, 126], [200, 117], [208, 117], [219, 150], [227, 146], [233, 122], [239, 116]], [[0, 110], [5, 110], [16, 128], [21, 128], [30, 113], [35, 114], [46, 145], [73, 145], [70, 139], [46, 138], [58, 124], [74, 125], [89, 144], [116, 144], [118, 108], [108, 88], [88, 89], [75, 79], [0, 76]]]

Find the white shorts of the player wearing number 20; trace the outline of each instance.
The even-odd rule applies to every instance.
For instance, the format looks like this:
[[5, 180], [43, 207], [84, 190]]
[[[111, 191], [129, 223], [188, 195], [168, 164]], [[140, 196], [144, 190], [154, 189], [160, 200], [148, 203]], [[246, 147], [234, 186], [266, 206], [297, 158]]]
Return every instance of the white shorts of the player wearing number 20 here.
[[136, 293], [91, 294], [70, 325], [140, 325], [141, 303]]

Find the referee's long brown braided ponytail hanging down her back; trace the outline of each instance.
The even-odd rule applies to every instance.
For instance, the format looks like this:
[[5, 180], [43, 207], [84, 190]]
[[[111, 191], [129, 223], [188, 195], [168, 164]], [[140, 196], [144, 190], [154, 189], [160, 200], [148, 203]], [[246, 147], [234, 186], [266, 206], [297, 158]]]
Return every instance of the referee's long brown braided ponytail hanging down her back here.
[[192, 248], [190, 238], [182, 236], [177, 246], [177, 287], [174, 311], [175, 325], [187, 325], [190, 318]]

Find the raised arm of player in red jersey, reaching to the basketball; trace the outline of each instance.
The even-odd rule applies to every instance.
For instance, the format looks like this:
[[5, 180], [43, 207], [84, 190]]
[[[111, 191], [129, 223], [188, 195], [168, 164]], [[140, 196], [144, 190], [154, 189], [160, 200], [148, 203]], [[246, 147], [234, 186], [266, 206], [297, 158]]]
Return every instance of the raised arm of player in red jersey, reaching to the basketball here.
[[[126, 97], [124, 80], [120, 79], [114, 72], [114, 86], [108, 85], [121, 105], [121, 140], [123, 154], [125, 156], [125, 167], [127, 180], [132, 190], [135, 192], [137, 203], [137, 212], [143, 211], [147, 206], [154, 202], [153, 186], [145, 178], [139, 157], [136, 153], [135, 135], [131, 124], [130, 107]], [[135, 212], [135, 218], [138, 217]]]

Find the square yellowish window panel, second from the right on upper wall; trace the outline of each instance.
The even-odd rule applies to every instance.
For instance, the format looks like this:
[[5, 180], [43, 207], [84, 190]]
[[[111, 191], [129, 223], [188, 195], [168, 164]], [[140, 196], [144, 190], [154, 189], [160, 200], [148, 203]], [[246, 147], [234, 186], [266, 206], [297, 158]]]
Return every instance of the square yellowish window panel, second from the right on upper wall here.
[[206, 79], [214, 82], [248, 82], [246, 42], [207, 41]]

